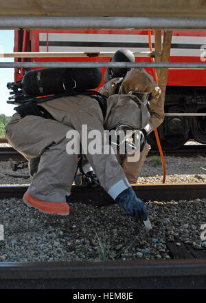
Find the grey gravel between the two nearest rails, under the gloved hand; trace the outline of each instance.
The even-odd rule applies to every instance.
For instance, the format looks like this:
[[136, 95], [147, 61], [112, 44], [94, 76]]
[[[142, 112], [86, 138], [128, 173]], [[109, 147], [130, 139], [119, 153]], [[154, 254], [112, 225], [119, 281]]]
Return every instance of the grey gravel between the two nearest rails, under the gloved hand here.
[[0, 241], [0, 260], [170, 259], [165, 242], [174, 241], [204, 251], [201, 226], [206, 223], [205, 199], [146, 205], [152, 231], [146, 231], [118, 205], [70, 204], [70, 215], [62, 217], [30, 209], [19, 199], [1, 200], [4, 241]]

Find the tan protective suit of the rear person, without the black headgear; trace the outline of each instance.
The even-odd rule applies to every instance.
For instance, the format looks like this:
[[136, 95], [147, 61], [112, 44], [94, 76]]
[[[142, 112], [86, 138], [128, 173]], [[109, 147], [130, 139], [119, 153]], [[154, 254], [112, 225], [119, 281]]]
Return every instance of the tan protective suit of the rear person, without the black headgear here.
[[[148, 133], [150, 133], [159, 127], [164, 119], [164, 101], [161, 98], [161, 90], [152, 76], [150, 76], [144, 68], [133, 68], [127, 72], [120, 87], [119, 79], [120, 78], [114, 78], [108, 81], [100, 88], [99, 92], [106, 97], [112, 96], [113, 94], [128, 94], [129, 92], [149, 92], [151, 94], [150, 105], [148, 107], [150, 119], [148, 125], [146, 125], [146, 129]], [[131, 120], [133, 119], [133, 114], [130, 115], [130, 118]], [[128, 161], [127, 154], [124, 156], [117, 154], [117, 159], [122, 165], [129, 182], [137, 182], [139, 172], [141, 171], [141, 167], [144, 164], [149, 150], [150, 145], [147, 143], [141, 151], [140, 158], [137, 162]]]

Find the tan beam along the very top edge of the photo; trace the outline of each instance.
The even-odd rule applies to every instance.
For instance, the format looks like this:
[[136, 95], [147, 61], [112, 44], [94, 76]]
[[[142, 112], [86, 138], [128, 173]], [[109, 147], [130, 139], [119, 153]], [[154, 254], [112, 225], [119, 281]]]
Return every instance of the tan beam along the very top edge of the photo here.
[[205, 17], [205, 1], [196, 0], [1, 0], [0, 16]]

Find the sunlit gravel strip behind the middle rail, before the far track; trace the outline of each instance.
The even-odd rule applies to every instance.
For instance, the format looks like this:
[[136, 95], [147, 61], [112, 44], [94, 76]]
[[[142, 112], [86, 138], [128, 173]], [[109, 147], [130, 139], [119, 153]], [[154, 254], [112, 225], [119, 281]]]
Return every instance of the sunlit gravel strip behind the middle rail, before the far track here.
[[[163, 170], [159, 158], [158, 165], [155, 160], [157, 157], [148, 157], [141, 169], [138, 178], [139, 184], [161, 183], [163, 179]], [[155, 166], [156, 165], [156, 166]], [[28, 169], [18, 169], [12, 171], [12, 162], [0, 162], [0, 185], [29, 185], [30, 178]], [[165, 156], [166, 183], [181, 182], [206, 182], [205, 157], [196, 156], [191, 158]], [[13, 175], [13, 176], [11, 176]], [[24, 176], [16, 178], [14, 176]]]

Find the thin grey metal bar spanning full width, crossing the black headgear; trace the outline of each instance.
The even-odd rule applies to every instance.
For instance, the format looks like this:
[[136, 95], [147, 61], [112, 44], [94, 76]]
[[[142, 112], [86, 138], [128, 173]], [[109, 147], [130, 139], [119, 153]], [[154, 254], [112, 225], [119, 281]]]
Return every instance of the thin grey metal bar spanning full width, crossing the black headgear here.
[[37, 68], [37, 67], [120, 67], [120, 68], [206, 68], [206, 62], [0, 62], [0, 68]]

